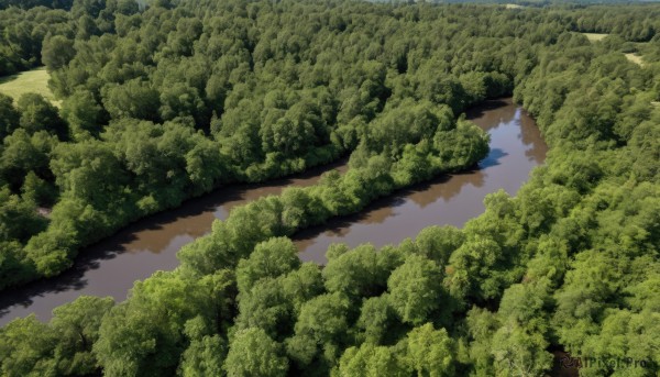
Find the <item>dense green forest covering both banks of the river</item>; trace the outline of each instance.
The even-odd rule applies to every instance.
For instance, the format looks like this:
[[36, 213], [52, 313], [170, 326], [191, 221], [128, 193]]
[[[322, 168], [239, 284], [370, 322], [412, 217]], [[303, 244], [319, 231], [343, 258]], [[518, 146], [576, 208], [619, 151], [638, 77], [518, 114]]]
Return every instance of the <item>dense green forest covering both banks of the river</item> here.
[[[564, 352], [660, 373], [660, 5], [0, 1], [0, 76], [45, 66], [62, 101], [0, 93], [0, 295], [193, 197], [349, 158], [123, 302], [10, 322], [0, 375], [543, 376]], [[503, 96], [550, 146], [520, 191], [300, 262], [296, 232], [474, 167], [463, 113]]]

